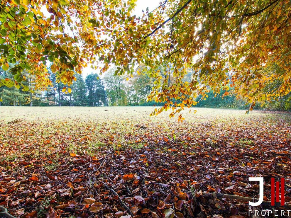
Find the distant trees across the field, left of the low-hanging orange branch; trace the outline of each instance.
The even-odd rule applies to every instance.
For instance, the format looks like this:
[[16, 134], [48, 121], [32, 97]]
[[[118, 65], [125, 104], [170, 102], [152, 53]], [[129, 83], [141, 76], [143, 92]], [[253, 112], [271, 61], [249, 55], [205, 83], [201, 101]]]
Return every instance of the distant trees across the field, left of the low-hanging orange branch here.
[[[117, 76], [116, 68], [111, 69], [103, 78], [89, 74], [84, 79], [75, 74], [71, 86], [64, 85], [58, 74], [52, 74], [51, 85], [45, 91], [35, 91], [30, 79], [25, 81], [30, 91], [20, 88], [0, 87], [0, 106], [127, 106], [146, 103], [153, 87], [153, 81], [145, 74]], [[29, 74], [25, 74], [29, 76]], [[0, 68], [0, 79], [11, 77], [9, 71]], [[130, 78], [130, 79], [129, 79]], [[68, 91], [70, 90], [70, 91]]]

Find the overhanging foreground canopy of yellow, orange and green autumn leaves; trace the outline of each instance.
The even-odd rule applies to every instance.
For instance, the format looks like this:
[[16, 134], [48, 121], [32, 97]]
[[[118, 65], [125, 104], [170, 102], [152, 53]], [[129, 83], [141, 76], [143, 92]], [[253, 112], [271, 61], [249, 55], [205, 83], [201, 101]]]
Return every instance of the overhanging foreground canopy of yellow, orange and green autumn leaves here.
[[0, 85], [28, 90], [26, 70], [45, 88], [48, 61], [68, 85], [88, 64], [119, 75], [142, 64], [155, 80], [148, 99], [165, 102], [152, 114], [172, 108], [171, 116], [209, 89], [227, 95], [232, 87], [250, 110], [290, 93], [290, 1], [163, 0], [139, 17], [135, 2], [2, 0], [0, 64], [14, 67]]

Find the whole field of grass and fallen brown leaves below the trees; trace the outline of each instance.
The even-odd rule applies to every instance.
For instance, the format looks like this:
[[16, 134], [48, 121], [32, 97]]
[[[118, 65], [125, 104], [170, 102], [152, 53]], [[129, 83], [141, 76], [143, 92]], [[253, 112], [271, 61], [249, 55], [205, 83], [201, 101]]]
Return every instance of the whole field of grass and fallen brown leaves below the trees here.
[[209, 193], [290, 181], [290, 113], [192, 108], [181, 123], [153, 109], [0, 107], [0, 205], [22, 217], [248, 217], [247, 202]]

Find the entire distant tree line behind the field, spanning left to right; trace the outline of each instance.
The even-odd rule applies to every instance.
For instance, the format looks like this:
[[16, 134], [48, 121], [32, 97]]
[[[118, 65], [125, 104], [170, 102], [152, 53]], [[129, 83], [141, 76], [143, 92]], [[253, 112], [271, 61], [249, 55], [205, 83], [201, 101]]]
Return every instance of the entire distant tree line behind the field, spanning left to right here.
[[[50, 71], [50, 67], [48, 67]], [[98, 74], [89, 74], [86, 79], [80, 74], [75, 74], [76, 81], [68, 87], [61, 82], [58, 74], [50, 73], [51, 85], [45, 91], [36, 91], [33, 78], [26, 75], [26, 85], [30, 91], [23, 88], [0, 87], [0, 106], [162, 106], [164, 103], [147, 101], [147, 96], [153, 88], [153, 79], [141, 73], [141, 68], [137, 69], [133, 75], [115, 75], [116, 68], [110, 69], [103, 78]], [[0, 68], [0, 79], [5, 79], [9, 75], [8, 71]], [[191, 75], [191, 74], [189, 74]], [[170, 78], [171, 79], [171, 78]], [[190, 76], [185, 76], [186, 81], [190, 81]], [[274, 83], [273, 86], [278, 84]], [[280, 84], [279, 84], [280, 85]], [[68, 92], [67, 90], [69, 90]], [[270, 88], [270, 87], [269, 87]], [[209, 90], [208, 97], [202, 99], [197, 97], [197, 107], [205, 108], [240, 108], [247, 109], [248, 104], [237, 98], [235, 95], [225, 95], [225, 90], [221, 90], [219, 95]], [[229, 87], [229, 93], [232, 89]], [[256, 109], [269, 110], [291, 110], [291, 94], [284, 96], [281, 101], [267, 102], [261, 107], [256, 105]], [[179, 103], [179, 102], [177, 102]]]

